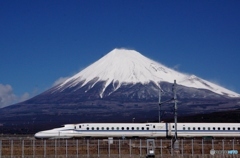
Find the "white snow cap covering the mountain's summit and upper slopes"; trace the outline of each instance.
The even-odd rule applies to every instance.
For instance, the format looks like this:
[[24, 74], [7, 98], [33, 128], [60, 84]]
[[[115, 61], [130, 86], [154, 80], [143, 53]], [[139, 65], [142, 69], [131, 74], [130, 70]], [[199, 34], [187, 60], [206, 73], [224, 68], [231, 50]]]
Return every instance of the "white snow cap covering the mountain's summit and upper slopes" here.
[[173, 69], [146, 58], [135, 50], [114, 49], [98, 61], [94, 62], [84, 70], [80, 71], [73, 77], [67, 79], [58, 85], [57, 89], [64, 90], [67, 87], [74, 87], [83, 82], [81, 87], [94, 81], [94, 85], [99, 81], [105, 81], [101, 97], [107, 86], [114, 85], [116, 91], [122, 84], [147, 84], [155, 83], [159, 87], [162, 81], [172, 83], [174, 80], [177, 84], [199, 89], [208, 89], [215, 93], [229, 97], [240, 97], [240, 94], [220, 87], [216, 84], [198, 78], [194, 75], [187, 75], [177, 72]]

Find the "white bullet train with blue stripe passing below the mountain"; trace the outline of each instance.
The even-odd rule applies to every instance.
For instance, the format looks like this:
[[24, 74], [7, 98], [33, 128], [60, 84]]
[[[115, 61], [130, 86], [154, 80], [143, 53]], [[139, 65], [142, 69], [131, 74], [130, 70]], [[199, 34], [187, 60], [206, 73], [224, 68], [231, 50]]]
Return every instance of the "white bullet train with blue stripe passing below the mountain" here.
[[[80, 123], [40, 131], [36, 139], [173, 137], [174, 123]], [[240, 123], [177, 123], [178, 137], [239, 137]]]

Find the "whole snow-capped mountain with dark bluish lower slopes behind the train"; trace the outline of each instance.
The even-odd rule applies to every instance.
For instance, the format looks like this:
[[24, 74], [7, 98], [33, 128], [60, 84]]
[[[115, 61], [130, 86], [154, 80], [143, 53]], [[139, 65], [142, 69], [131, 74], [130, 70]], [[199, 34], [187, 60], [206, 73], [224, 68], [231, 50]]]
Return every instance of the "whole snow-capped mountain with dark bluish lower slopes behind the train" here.
[[[135, 50], [114, 49], [44, 93], [0, 109], [0, 118], [13, 117], [16, 122], [16, 118], [24, 117], [44, 127], [75, 122], [129, 122], [132, 118], [138, 122], [157, 120], [159, 91], [162, 100], [172, 98], [174, 80], [179, 115], [240, 108], [238, 93], [175, 71]], [[163, 105], [166, 117], [171, 117], [171, 107], [171, 102]]]

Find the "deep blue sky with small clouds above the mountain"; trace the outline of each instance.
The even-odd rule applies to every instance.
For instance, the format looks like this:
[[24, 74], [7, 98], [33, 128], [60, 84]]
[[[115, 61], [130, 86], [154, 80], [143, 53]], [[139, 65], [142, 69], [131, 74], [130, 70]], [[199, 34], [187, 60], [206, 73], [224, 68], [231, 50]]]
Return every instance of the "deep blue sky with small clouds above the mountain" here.
[[239, 0], [0, 0], [0, 107], [114, 48], [240, 93]]

